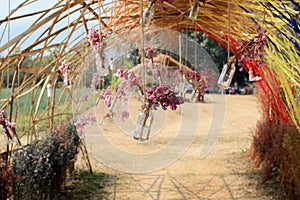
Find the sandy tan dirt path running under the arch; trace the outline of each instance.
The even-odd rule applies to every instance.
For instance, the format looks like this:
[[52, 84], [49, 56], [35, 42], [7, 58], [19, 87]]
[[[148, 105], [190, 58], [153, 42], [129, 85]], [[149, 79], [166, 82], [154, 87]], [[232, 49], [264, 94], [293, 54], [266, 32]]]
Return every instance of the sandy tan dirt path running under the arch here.
[[[205, 101], [187, 102], [181, 111], [154, 113], [147, 142], [132, 138], [139, 112], [134, 98], [126, 122], [108, 120], [102, 127], [87, 127], [85, 141], [94, 169], [118, 177], [106, 188], [107, 198], [272, 199], [249, 178], [245, 159], [259, 119], [257, 99], [207, 95]], [[95, 109], [99, 118], [101, 109]], [[219, 122], [223, 126], [218, 136]], [[209, 149], [214, 141], [214, 148], [201, 157], [201, 147]]]

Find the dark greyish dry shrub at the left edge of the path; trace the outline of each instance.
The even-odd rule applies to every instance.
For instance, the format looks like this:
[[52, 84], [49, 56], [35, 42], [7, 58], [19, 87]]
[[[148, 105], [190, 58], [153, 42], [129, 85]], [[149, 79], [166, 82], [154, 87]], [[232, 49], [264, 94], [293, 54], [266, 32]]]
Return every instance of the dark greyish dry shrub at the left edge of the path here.
[[74, 168], [80, 140], [75, 126], [33, 142], [12, 156], [14, 199], [53, 199]]

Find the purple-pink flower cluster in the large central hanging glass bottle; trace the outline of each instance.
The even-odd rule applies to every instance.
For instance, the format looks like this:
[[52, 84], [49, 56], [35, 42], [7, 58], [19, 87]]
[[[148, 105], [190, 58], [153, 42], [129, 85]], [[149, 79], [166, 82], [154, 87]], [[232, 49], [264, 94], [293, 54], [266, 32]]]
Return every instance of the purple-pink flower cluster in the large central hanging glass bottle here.
[[147, 99], [150, 105], [161, 105], [163, 110], [170, 107], [176, 110], [177, 106], [184, 103], [183, 97], [177, 97], [167, 84], [153, 85], [146, 89]]

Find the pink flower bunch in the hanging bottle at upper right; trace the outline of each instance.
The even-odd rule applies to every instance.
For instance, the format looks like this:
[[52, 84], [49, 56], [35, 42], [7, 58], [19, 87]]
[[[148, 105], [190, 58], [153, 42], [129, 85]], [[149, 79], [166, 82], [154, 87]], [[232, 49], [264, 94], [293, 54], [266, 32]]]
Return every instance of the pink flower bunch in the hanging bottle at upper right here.
[[259, 27], [255, 34], [255, 37], [247, 42], [245, 42], [240, 47], [241, 57], [238, 60], [239, 65], [243, 60], [254, 61], [260, 64], [264, 63], [263, 56], [265, 55], [264, 47], [266, 45], [266, 40], [268, 38], [268, 33], [266, 29]]

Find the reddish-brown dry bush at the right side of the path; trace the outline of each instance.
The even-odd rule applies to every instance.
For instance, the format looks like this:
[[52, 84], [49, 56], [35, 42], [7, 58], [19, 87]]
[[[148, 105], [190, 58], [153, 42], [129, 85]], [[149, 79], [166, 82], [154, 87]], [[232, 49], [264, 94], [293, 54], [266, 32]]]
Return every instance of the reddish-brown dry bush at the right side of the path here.
[[275, 178], [283, 195], [300, 199], [300, 135], [295, 126], [271, 123], [267, 117], [257, 122], [251, 158], [262, 167], [261, 183]]

